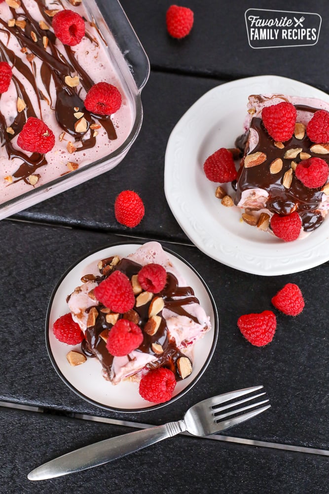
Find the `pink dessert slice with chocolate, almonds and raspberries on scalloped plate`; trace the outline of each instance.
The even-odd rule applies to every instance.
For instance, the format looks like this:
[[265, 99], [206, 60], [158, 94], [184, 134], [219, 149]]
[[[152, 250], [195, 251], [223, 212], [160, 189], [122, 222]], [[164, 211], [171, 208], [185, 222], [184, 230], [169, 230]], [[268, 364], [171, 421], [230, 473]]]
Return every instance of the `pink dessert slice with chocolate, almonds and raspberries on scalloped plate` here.
[[236, 141], [244, 156], [235, 197], [247, 223], [286, 242], [322, 224], [329, 209], [328, 124], [325, 101], [283, 94], [249, 97], [245, 133]]

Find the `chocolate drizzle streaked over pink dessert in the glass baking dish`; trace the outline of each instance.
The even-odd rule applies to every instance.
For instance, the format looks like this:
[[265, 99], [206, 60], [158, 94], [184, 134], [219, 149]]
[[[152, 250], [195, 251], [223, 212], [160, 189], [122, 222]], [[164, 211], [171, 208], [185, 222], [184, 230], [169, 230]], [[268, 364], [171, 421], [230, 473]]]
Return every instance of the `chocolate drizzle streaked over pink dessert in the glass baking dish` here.
[[[47, 9], [44, 0], [35, 0], [45, 23], [51, 26], [52, 18], [49, 17], [45, 10]], [[54, 0], [51, 4], [51, 8], [56, 6], [64, 8], [63, 3], [58, 0]], [[23, 12], [21, 11], [23, 9]], [[17, 135], [23, 128], [29, 117], [37, 117], [42, 120], [41, 104], [40, 100], [45, 100], [51, 110], [55, 112], [56, 120], [61, 126], [63, 131], [67, 132], [74, 138], [74, 141], [79, 142], [76, 149], [77, 152], [83, 151], [88, 148], [92, 148], [96, 144], [96, 138], [93, 136], [93, 132], [90, 132], [89, 137], [86, 137], [90, 125], [95, 124], [95, 120], [102, 125], [108, 134], [109, 139], [116, 139], [116, 132], [114, 125], [111, 122], [110, 116], [93, 115], [88, 112], [84, 107], [83, 100], [79, 96], [79, 91], [76, 87], [70, 87], [65, 83], [66, 76], [77, 75], [79, 77], [80, 84], [87, 92], [94, 84], [94, 81], [86, 73], [86, 71], [80, 66], [74, 56], [74, 47], [65, 46], [66, 57], [60, 53], [55, 45], [56, 37], [50, 28], [48, 30], [41, 29], [39, 23], [30, 15], [24, 0], [21, 0], [21, 8], [19, 12], [16, 9], [10, 7], [12, 18], [15, 20], [24, 20], [26, 26], [24, 29], [17, 25], [9, 27], [8, 24], [0, 19], [0, 31], [7, 34], [8, 41], [10, 36], [16, 38], [20, 44], [22, 57], [26, 56], [30, 61], [30, 67], [25, 64], [21, 58], [15, 55], [6, 44], [0, 41], [0, 61], [5, 61], [10, 64], [12, 68], [15, 68], [22, 76], [24, 76], [31, 86], [34, 88], [39, 114], [36, 114], [36, 110], [33, 108], [30, 98], [25, 91], [24, 85], [19, 81], [19, 78], [13, 76], [13, 82], [16, 87], [17, 97], [20, 97], [26, 103], [26, 108], [22, 112], [18, 112], [12, 122], [6, 122], [4, 115], [0, 112], [0, 139], [1, 145], [5, 147], [8, 155], [8, 159], [19, 158], [22, 164], [12, 174], [14, 182], [18, 180], [24, 180], [29, 184], [28, 177], [35, 174], [37, 168], [43, 165], [47, 165], [47, 160], [44, 154], [34, 153], [32, 156], [28, 156], [23, 150], [15, 149], [11, 144], [12, 134], [6, 131], [7, 127], [12, 127]], [[91, 25], [93, 25], [91, 23]], [[33, 41], [31, 33], [34, 32], [37, 36], [37, 41]], [[43, 37], [48, 38], [47, 49], [43, 46]], [[98, 46], [98, 41], [94, 39], [89, 33], [86, 32], [85, 36], [94, 44]], [[40, 77], [44, 85], [46, 94], [37, 86], [36, 80], [36, 64], [33, 58], [37, 57], [41, 60]], [[52, 101], [50, 94], [51, 81], [55, 83], [56, 88], [56, 101]], [[78, 110], [74, 110], [78, 108]], [[76, 132], [74, 124], [77, 120], [74, 117], [76, 111], [82, 112], [84, 118], [87, 121], [87, 129], [85, 132]], [[57, 138], [59, 136], [56, 136]]]

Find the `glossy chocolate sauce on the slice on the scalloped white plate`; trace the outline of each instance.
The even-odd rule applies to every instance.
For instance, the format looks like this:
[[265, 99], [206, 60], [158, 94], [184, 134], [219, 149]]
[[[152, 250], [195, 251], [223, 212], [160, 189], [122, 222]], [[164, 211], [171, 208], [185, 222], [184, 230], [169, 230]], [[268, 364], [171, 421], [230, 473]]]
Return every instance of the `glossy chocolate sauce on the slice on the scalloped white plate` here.
[[[315, 113], [318, 108], [312, 108], [306, 105], [295, 105], [296, 110]], [[258, 143], [252, 153], [260, 151], [265, 153], [266, 160], [257, 166], [246, 168], [243, 166], [238, 171], [237, 191], [235, 204], [241, 200], [242, 192], [248, 189], [260, 188], [268, 192], [266, 207], [273, 213], [281, 215], [290, 214], [297, 211], [301, 221], [302, 228], [305, 232], [311, 232], [318, 228], [323, 222], [323, 216], [318, 210], [322, 199], [322, 187], [309, 189], [305, 187], [292, 174], [291, 186], [287, 189], [283, 185], [283, 177], [287, 170], [290, 169], [292, 161], [299, 163], [301, 161], [299, 154], [295, 159], [285, 159], [284, 154], [288, 149], [302, 148], [301, 152], [308, 153], [311, 157], [322, 158], [329, 164], [329, 155], [316, 154], [310, 150], [314, 144], [308, 138], [306, 132], [302, 139], [296, 139], [293, 135], [291, 139], [284, 142], [284, 148], [279, 149], [274, 145], [274, 140], [268, 135], [262, 120], [254, 117], [250, 127], [254, 129], [258, 135]], [[248, 136], [247, 136], [248, 137]], [[246, 134], [240, 136], [236, 140], [236, 146], [246, 145]], [[249, 149], [245, 149], [245, 156], [249, 154]], [[277, 158], [281, 158], [283, 166], [280, 172], [271, 173], [270, 165]]]

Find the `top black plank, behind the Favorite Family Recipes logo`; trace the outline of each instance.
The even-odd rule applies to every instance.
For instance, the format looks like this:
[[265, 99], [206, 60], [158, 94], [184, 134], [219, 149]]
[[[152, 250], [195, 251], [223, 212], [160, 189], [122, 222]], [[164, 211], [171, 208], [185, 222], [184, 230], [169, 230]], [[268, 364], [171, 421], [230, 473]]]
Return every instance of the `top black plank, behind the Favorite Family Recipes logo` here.
[[[165, 15], [175, 2], [161, 0], [121, 4], [149, 57], [153, 70], [210, 75], [228, 80], [275, 74], [329, 90], [329, 68], [324, 64], [329, 12], [325, 0], [255, 0], [253, 3], [224, 0], [188, 0], [179, 5], [194, 12], [194, 26], [183, 40], [167, 34]], [[254, 49], [249, 46], [245, 11], [248, 8], [316, 12], [322, 17], [320, 37], [314, 46]], [[278, 17], [281, 15], [278, 13]], [[156, 42], [155, 42], [156, 40]]]

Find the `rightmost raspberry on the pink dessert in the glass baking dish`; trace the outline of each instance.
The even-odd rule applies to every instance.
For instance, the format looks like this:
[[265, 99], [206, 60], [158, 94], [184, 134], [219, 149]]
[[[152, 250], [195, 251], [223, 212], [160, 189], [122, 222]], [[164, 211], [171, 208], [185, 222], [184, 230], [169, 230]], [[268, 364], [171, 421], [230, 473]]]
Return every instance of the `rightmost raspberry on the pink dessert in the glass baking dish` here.
[[97, 82], [86, 94], [84, 106], [97, 115], [112, 115], [122, 103], [120, 91], [108, 82]]

